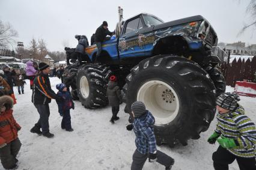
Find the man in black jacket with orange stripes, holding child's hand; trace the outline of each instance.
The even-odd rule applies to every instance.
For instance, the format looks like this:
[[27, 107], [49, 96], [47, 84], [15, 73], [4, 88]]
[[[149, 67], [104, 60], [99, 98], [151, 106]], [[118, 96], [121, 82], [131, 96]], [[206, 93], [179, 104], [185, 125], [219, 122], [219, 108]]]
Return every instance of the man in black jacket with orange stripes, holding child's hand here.
[[[40, 115], [38, 122], [30, 130], [31, 133], [43, 134], [47, 138], [52, 138], [54, 135], [49, 132], [49, 103], [52, 99], [62, 102], [62, 97], [59, 97], [50, 87], [49, 72], [50, 67], [44, 62], [39, 63], [40, 74], [34, 79], [34, 90], [32, 91], [32, 103]], [[40, 131], [42, 129], [42, 132]]]

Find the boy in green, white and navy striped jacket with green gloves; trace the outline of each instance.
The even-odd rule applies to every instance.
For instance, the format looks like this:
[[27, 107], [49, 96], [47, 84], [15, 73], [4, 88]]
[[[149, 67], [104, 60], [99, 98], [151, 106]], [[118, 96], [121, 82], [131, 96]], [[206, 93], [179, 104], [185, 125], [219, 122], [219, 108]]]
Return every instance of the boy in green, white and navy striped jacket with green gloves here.
[[237, 94], [224, 93], [217, 100], [218, 124], [208, 139], [216, 141], [219, 148], [213, 153], [213, 166], [216, 170], [228, 170], [228, 165], [237, 160], [240, 170], [255, 170], [255, 124], [245, 115], [245, 109], [237, 102]]

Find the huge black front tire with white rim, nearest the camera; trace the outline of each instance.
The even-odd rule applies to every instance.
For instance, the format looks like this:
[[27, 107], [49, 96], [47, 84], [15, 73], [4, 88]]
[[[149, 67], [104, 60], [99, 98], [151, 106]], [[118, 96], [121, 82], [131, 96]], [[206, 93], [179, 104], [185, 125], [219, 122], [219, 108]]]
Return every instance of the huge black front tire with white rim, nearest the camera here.
[[215, 85], [197, 63], [180, 56], [158, 55], [132, 68], [123, 87], [126, 111], [136, 100], [154, 115], [157, 145], [200, 138], [215, 116]]

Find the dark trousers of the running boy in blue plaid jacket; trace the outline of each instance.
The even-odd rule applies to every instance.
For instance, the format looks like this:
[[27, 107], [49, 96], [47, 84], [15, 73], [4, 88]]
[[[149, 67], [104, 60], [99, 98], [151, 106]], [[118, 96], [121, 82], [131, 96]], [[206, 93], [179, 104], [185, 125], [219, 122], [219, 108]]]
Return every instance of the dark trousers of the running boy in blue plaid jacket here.
[[[144, 166], [144, 163], [146, 162], [148, 158], [148, 154], [141, 154], [138, 150], [135, 150], [132, 156], [132, 167], [131, 170], [141, 170]], [[165, 153], [162, 153], [161, 151], [157, 150], [157, 161], [161, 165], [164, 165], [165, 167], [171, 166], [173, 159], [166, 155]]]

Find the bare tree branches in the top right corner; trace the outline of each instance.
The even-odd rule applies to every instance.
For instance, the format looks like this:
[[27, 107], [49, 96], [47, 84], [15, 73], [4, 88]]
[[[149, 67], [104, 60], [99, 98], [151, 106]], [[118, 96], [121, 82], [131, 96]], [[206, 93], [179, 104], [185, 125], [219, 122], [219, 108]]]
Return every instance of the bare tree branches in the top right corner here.
[[246, 8], [246, 13], [251, 16], [252, 21], [250, 23], [246, 23], [239, 34], [242, 34], [243, 32], [245, 32], [245, 29], [251, 26], [254, 26], [254, 28], [256, 29], [256, 0], [251, 0], [249, 2], [249, 5]]

